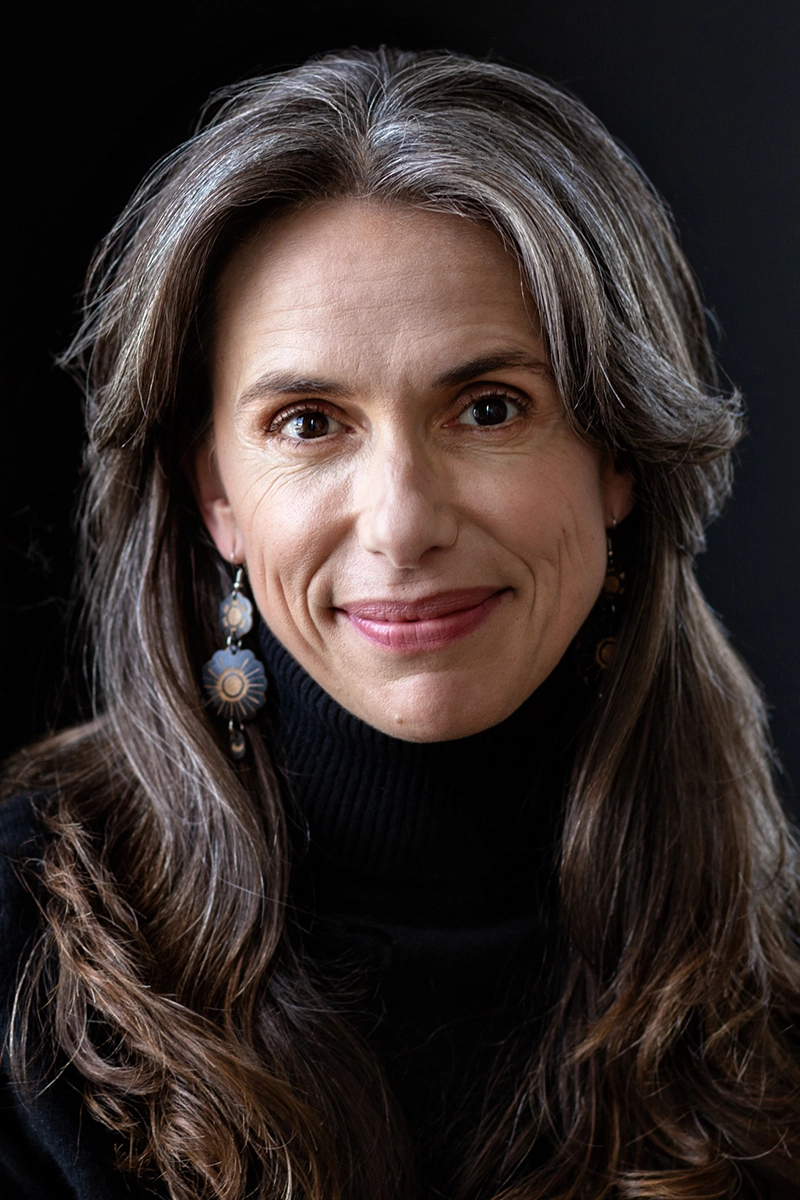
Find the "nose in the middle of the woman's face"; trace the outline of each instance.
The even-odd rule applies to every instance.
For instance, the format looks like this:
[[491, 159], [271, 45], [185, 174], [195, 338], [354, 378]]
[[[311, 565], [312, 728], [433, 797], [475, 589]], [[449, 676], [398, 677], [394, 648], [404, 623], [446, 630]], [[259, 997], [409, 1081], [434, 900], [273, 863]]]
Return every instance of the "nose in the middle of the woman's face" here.
[[392, 566], [417, 566], [434, 550], [452, 546], [458, 517], [443, 468], [426, 449], [387, 439], [378, 444], [359, 481], [359, 539]]

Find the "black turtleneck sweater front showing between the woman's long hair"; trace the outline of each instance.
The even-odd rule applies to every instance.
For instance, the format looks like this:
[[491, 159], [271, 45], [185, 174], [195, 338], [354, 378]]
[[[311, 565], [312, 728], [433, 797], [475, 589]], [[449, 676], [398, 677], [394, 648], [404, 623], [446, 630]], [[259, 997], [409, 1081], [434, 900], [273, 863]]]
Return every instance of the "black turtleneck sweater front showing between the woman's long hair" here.
[[265, 626], [259, 642], [299, 938], [441, 1182], [552, 996], [555, 844], [587, 689], [565, 661], [491, 730], [403, 742], [337, 704]]

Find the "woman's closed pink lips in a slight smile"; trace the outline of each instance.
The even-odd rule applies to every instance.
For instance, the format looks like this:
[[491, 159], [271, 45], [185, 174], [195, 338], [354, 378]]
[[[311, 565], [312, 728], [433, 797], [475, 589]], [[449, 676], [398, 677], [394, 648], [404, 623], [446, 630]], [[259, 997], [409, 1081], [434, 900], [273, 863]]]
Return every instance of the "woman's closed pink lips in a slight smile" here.
[[435, 650], [482, 625], [509, 588], [462, 588], [420, 600], [357, 600], [338, 612], [387, 650]]

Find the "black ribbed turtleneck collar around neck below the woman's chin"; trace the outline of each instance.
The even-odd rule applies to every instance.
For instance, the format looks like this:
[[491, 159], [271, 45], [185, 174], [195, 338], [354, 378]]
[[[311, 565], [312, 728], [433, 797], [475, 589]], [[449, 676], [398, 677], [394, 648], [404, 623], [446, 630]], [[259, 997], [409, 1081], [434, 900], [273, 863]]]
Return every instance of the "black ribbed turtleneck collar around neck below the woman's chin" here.
[[[587, 691], [564, 662], [511, 716], [455, 742], [390, 737], [341, 707], [266, 625], [269, 737], [317, 889], [470, 922], [552, 865]], [[324, 883], [321, 881], [325, 881]], [[393, 906], [393, 905], [392, 905]], [[497, 916], [500, 916], [497, 912]], [[446, 913], [444, 914], [446, 916]]]

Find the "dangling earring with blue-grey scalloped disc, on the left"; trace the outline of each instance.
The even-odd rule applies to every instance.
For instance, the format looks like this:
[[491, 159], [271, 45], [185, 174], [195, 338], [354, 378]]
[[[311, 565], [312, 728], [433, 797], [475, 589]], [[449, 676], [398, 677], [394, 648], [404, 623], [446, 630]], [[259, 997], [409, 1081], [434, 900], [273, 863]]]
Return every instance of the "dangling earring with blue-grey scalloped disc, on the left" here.
[[243, 758], [247, 749], [242, 722], [259, 710], [266, 695], [266, 673], [252, 650], [243, 650], [241, 640], [253, 628], [253, 606], [241, 594], [243, 568], [236, 569], [233, 592], [219, 605], [219, 624], [227, 635], [225, 648], [203, 667], [211, 708], [228, 721], [230, 757]]

